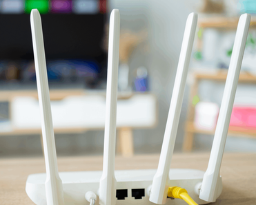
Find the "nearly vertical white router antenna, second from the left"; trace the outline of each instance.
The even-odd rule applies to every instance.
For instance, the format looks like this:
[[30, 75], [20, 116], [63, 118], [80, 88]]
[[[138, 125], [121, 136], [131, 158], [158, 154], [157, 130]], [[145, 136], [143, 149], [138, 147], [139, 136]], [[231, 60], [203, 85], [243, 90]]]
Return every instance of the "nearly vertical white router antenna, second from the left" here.
[[99, 182], [99, 204], [114, 205], [116, 201], [115, 140], [117, 122], [117, 79], [119, 63], [120, 14], [110, 14], [108, 43], [108, 80], [106, 94], [106, 122], [104, 133], [103, 173]]

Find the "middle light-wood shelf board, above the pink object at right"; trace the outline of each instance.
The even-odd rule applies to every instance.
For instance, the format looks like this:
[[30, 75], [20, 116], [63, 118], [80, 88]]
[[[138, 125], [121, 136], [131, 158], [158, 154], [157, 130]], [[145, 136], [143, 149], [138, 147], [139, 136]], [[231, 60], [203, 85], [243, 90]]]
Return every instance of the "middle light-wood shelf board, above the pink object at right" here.
[[[197, 80], [226, 81], [227, 74], [227, 70], [221, 70], [211, 73], [193, 72], [193, 76]], [[256, 76], [250, 74], [249, 72], [241, 72], [239, 75], [239, 83], [256, 83]]]

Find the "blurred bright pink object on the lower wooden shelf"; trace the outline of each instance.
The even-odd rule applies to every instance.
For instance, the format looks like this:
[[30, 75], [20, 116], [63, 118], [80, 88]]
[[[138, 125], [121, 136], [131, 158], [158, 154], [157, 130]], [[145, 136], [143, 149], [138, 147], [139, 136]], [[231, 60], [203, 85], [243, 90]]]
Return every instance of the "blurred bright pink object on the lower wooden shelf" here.
[[229, 125], [256, 128], [256, 107], [234, 107]]

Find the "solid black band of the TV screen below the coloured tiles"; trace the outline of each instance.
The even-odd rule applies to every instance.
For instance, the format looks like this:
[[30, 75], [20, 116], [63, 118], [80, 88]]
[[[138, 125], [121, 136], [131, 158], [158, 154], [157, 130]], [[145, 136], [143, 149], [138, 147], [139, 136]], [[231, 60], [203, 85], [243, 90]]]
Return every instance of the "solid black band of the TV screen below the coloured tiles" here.
[[[99, 58], [103, 51], [104, 14], [41, 14], [46, 58]], [[29, 14], [0, 15], [0, 59], [31, 60]]]

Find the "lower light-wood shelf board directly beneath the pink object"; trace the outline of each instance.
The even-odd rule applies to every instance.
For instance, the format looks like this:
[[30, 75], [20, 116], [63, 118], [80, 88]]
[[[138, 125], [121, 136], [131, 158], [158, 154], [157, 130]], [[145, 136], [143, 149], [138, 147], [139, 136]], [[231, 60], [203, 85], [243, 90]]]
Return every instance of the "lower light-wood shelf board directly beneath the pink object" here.
[[[186, 125], [186, 131], [190, 133], [201, 133], [201, 134], [207, 134], [207, 135], [214, 135], [214, 130], [204, 130], [204, 129], [198, 129], [194, 126], [193, 122], [187, 122]], [[230, 126], [228, 129], [228, 135], [230, 136], [246, 136], [246, 137], [254, 137], [256, 136], [256, 128], [250, 129], [246, 127], [233, 127]]]

